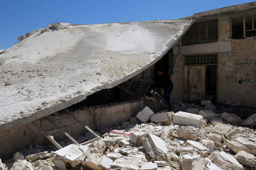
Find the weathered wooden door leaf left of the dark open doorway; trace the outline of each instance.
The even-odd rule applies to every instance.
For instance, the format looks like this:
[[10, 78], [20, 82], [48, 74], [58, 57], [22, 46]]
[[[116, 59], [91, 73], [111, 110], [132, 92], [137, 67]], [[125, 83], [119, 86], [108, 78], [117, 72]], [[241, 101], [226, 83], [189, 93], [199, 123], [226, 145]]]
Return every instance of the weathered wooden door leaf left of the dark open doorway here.
[[203, 100], [205, 97], [205, 66], [185, 66], [184, 100]]

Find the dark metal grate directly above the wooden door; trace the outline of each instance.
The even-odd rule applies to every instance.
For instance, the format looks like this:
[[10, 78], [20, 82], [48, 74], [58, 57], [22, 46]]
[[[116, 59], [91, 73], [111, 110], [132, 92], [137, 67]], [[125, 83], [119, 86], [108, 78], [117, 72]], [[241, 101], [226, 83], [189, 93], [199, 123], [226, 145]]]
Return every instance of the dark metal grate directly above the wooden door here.
[[185, 56], [185, 65], [217, 64], [217, 54]]

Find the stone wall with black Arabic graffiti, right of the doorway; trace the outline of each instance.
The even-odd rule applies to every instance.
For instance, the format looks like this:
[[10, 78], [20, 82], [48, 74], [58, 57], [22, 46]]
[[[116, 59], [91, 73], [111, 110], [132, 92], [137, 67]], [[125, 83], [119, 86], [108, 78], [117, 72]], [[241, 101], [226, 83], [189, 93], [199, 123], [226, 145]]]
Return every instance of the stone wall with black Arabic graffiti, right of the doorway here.
[[256, 107], [256, 37], [232, 40], [230, 53], [218, 54], [218, 101]]

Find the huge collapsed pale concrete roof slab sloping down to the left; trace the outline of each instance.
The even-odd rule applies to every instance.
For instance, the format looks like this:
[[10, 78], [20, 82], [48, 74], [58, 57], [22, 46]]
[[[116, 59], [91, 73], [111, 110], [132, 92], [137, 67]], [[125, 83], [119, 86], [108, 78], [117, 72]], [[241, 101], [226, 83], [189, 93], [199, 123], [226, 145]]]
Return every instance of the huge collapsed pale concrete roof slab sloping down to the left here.
[[0, 133], [141, 73], [192, 22], [61, 23], [19, 37], [22, 41], [0, 55]]

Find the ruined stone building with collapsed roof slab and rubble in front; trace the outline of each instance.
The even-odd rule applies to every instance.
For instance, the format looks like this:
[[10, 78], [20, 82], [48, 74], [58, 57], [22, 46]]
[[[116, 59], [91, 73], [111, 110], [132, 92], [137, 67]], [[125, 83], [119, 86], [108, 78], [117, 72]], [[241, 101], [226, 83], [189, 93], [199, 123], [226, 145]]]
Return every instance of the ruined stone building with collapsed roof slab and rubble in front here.
[[[256, 2], [174, 20], [55, 23], [18, 40], [0, 51], [9, 168], [255, 168]], [[174, 84], [173, 112], [150, 94], [159, 68]]]

